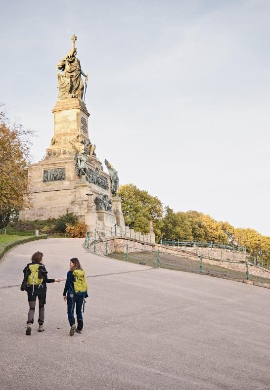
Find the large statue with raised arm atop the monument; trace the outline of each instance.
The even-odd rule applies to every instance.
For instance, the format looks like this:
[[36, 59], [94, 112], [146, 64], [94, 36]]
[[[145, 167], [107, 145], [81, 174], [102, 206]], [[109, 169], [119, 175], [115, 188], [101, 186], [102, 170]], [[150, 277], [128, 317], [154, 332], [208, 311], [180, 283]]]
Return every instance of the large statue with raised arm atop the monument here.
[[[80, 61], [77, 57], [75, 57], [75, 54], [77, 54], [77, 50], [75, 48], [76, 40], [76, 35], [73, 35], [71, 37], [71, 50], [57, 64], [57, 69], [63, 71], [62, 73], [57, 74], [59, 99], [64, 99], [66, 97], [78, 97], [83, 100], [84, 90], [87, 87], [88, 75], [82, 71]], [[81, 75], [86, 78], [85, 87]]]

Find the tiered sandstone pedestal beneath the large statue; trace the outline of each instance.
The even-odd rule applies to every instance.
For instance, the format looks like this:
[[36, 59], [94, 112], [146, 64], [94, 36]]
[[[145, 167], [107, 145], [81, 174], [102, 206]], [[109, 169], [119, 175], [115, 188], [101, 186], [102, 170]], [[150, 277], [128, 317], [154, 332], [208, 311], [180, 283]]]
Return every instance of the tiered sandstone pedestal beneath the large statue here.
[[[52, 112], [54, 134], [46, 157], [28, 167], [32, 206], [21, 211], [19, 219], [44, 220], [69, 212], [84, 221], [91, 232], [96, 229], [100, 234], [110, 234], [116, 223], [124, 228], [121, 198], [112, 195], [110, 175], [103, 172], [101, 162], [93, 155], [88, 128], [90, 114], [85, 103], [68, 96], [58, 100]], [[86, 164], [84, 171], [78, 163], [82, 157]], [[85, 173], [81, 179], [78, 172]], [[112, 202], [111, 211], [96, 210], [94, 200], [100, 195], [106, 195]]]

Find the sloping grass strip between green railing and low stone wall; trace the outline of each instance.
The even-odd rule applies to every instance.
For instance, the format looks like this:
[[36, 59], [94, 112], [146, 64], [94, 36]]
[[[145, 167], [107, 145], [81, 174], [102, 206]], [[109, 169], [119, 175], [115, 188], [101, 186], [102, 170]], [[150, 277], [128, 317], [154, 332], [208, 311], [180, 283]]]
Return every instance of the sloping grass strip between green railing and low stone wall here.
[[[114, 252], [109, 255], [110, 258], [124, 260], [126, 259], [125, 253]], [[157, 267], [157, 253], [156, 252], [136, 252], [129, 253], [130, 262], [139, 264], [140, 261], [145, 262], [145, 265], [151, 267]], [[170, 255], [160, 252], [160, 267], [173, 269], [176, 271], [200, 273], [200, 261], [190, 260], [180, 256]], [[250, 267], [249, 267], [250, 269]], [[203, 274], [208, 276], [214, 276], [222, 279], [235, 280], [242, 282], [246, 279], [245, 272], [234, 271], [227, 269], [219, 265], [206, 264], [203, 262]], [[249, 280], [260, 283], [270, 283], [270, 279], [262, 278], [249, 274]]]

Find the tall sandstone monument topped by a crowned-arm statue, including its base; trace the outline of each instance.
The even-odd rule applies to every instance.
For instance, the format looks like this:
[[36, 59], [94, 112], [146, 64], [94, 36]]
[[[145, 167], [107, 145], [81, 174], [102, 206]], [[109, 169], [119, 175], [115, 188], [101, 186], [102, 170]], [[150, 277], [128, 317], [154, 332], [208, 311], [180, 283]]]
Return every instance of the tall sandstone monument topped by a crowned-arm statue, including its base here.
[[[28, 167], [31, 208], [20, 212], [20, 220], [56, 218], [66, 212], [84, 221], [90, 232], [110, 234], [116, 224], [125, 227], [121, 198], [117, 195], [118, 173], [105, 160], [103, 171], [95, 145], [89, 138], [90, 116], [84, 99], [88, 75], [71, 50], [57, 64], [58, 100], [53, 108], [54, 133], [45, 158]], [[84, 78], [84, 81], [83, 81]]]

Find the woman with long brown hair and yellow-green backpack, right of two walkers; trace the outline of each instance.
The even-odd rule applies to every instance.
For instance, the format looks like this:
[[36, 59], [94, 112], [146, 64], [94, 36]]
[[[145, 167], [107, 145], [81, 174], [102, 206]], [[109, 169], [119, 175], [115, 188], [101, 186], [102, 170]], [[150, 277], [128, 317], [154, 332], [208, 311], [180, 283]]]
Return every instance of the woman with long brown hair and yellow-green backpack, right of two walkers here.
[[[77, 258], [70, 259], [69, 261], [69, 271], [67, 273], [63, 295], [64, 301], [67, 302], [68, 321], [70, 324], [69, 334], [73, 336], [75, 332], [82, 333], [84, 327], [82, 306], [88, 294], [85, 271]], [[74, 308], [76, 308], [77, 328], [74, 318]]]

